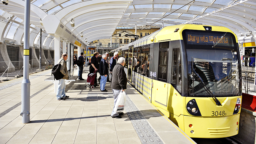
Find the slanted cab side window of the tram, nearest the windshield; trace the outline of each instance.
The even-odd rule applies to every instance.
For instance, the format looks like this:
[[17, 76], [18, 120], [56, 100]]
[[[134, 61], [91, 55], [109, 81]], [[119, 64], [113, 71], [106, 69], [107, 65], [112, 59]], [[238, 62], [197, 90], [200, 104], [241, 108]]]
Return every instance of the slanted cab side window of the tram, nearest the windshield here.
[[173, 86], [181, 92], [181, 61], [180, 61], [180, 49], [174, 48], [172, 51], [172, 78], [171, 83]]

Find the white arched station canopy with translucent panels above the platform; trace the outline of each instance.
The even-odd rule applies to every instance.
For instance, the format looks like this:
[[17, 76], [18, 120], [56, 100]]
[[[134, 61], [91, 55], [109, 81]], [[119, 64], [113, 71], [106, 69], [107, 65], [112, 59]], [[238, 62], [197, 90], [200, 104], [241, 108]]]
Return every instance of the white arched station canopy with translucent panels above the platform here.
[[[3, 32], [4, 37], [8, 40], [21, 37], [22, 41], [24, 32], [17, 29], [24, 25], [25, 1], [8, 1], [8, 5], [0, 4], [0, 18], [6, 25], [12, 22], [17, 26], [10, 26]], [[72, 19], [74, 27], [70, 24]], [[67, 41], [78, 41], [84, 47], [91, 41], [110, 38], [117, 27], [183, 23], [228, 27], [238, 39], [250, 41], [256, 37], [255, 19], [255, 0], [31, 0], [30, 23], [31, 32], [37, 30], [31, 35], [34, 39], [38, 28], [42, 28], [45, 35], [57, 34]], [[8, 37], [8, 33], [15, 36]]]

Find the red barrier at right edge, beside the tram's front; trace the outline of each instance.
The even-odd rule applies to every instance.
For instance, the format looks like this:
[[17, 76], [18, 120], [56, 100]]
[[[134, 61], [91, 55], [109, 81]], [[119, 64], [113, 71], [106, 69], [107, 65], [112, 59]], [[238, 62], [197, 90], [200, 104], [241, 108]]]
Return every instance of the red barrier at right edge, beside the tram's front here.
[[242, 108], [250, 111], [256, 111], [256, 96], [243, 93], [242, 94]]

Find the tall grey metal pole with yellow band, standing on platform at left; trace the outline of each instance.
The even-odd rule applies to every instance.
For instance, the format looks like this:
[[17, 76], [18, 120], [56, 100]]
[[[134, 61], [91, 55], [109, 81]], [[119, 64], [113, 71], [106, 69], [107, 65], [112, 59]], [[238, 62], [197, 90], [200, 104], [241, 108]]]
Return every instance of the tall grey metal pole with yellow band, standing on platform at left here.
[[23, 80], [21, 83], [21, 112], [22, 123], [30, 122], [30, 81], [28, 76], [29, 63], [29, 25], [30, 25], [30, 0], [25, 0], [24, 20], [24, 50], [23, 50]]

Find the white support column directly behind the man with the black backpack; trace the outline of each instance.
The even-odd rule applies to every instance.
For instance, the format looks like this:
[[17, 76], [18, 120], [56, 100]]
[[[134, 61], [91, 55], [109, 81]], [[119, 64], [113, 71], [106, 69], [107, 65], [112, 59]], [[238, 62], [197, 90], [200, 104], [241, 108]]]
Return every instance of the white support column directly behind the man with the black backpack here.
[[[54, 65], [58, 63], [60, 59], [60, 36], [55, 34], [54, 41]], [[54, 81], [54, 93], [57, 93], [58, 81]]]

